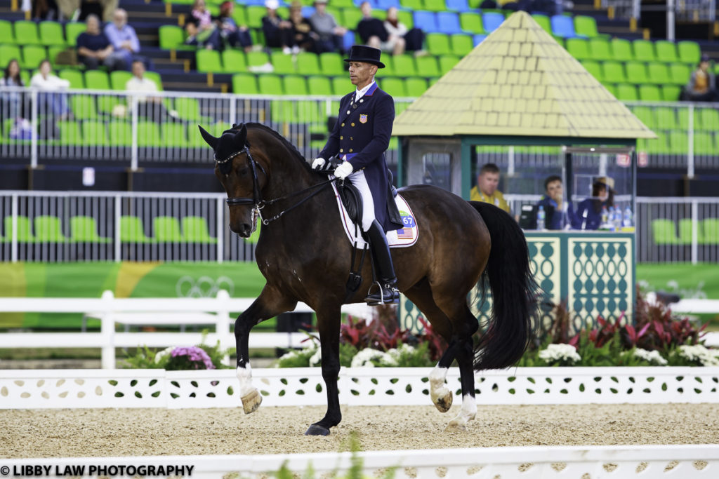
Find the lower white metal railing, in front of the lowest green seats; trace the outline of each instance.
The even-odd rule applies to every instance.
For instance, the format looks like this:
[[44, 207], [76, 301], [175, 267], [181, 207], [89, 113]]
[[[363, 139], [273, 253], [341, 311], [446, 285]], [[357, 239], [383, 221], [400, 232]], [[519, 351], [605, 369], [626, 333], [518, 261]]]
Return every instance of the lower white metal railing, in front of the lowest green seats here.
[[[0, 261], [254, 261], [221, 193], [0, 192]], [[513, 211], [539, 195], [505, 195]], [[579, 200], [576, 198], [575, 200]], [[631, 201], [616, 197], [620, 208]], [[719, 261], [719, 198], [638, 197], [641, 262]]]

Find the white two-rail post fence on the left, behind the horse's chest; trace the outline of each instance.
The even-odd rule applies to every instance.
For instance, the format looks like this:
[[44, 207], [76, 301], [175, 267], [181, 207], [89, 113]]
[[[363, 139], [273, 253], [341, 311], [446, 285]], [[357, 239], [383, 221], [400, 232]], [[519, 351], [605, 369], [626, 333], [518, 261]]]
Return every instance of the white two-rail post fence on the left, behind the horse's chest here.
[[[234, 321], [230, 312], [242, 312], [253, 301], [248, 298], [233, 299], [224, 290], [220, 290], [215, 298], [115, 298], [111, 291], [104, 292], [99, 299], [4, 297], [0, 298], [0, 312], [83, 312], [101, 320], [101, 331], [5, 332], [0, 335], [0, 348], [101, 348], [102, 367], [112, 369], [115, 367], [115, 348], [193, 345], [202, 338], [196, 332], [115, 332], [118, 322], [136, 325], [214, 324], [215, 332], [207, 335], [207, 341], [214, 344], [219, 340], [223, 348], [229, 348], [235, 345], [234, 333], [229, 327]], [[313, 310], [300, 302], [293, 312]], [[345, 304], [342, 312], [372, 318], [372, 310], [366, 304]], [[306, 338], [299, 332], [255, 332], [249, 335], [249, 347], [298, 348]]]

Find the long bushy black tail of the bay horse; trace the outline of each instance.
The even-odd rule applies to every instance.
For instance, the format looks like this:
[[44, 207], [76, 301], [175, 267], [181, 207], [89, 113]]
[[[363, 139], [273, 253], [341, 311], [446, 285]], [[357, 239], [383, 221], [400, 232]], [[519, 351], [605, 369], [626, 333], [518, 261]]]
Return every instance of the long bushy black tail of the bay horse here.
[[482, 299], [489, 282], [492, 314], [475, 346], [474, 367], [475, 371], [508, 368], [522, 357], [538, 325], [538, 288], [524, 233], [514, 218], [488, 203], [470, 204], [482, 215], [492, 239], [480, 279]]

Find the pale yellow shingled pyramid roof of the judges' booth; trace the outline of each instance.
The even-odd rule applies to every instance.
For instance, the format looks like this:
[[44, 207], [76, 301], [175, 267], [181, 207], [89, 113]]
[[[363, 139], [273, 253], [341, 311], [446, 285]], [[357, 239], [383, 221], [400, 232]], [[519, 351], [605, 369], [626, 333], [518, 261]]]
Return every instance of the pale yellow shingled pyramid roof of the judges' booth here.
[[524, 11], [395, 118], [392, 134], [656, 138]]

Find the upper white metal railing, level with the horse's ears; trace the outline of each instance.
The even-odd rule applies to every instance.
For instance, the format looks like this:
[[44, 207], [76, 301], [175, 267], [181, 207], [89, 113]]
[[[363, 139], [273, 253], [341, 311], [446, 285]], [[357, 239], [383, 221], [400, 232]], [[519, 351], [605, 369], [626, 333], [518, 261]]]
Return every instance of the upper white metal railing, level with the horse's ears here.
[[[381, 86], [381, 79], [379, 83]], [[4, 88], [3, 95], [16, 100], [5, 101], [0, 107], [0, 155], [22, 159], [31, 167], [63, 159], [93, 159], [97, 164], [132, 170], [170, 161], [205, 162], [211, 159], [211, 152], [196, 125], [202, 124], [217, 135], [234, 123], [249, 121], [276, 129], [310, 158], [324, 146], [328, 119], [336, 117], [339, 108], [339, 98], [334, 96], [187, 91], [147, 95], [122, 90], [48, 93], [34, 88]], [[412, 101], [395, 98], [396, 114]], [[657, 140], [638, 144], [638, 151], [647, 155], [647, 166], [686, 169], [688, 177], [695, 175], [695, 169], [719, 166], [715, 139], [719, 114], [715, 106], [688, 102], [626, 105], [659, 135]], [[27, 120], [28, 131], [18, 133], [15, 129], [17, 115]], [[393, 139], [390, 164], [396, 163], [396, 149]], [[558, 147], [481, 147], [478, 155], [480, 163], [495, 162], [510, 172], [523, 167], [561, 167], [564, 162]]]

